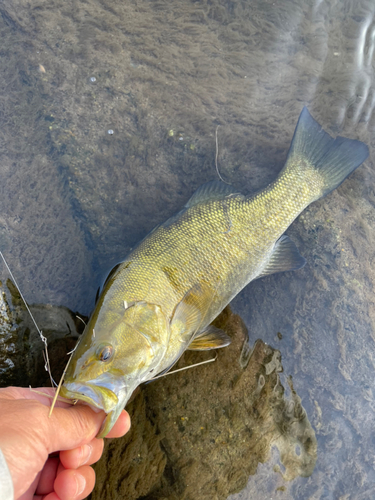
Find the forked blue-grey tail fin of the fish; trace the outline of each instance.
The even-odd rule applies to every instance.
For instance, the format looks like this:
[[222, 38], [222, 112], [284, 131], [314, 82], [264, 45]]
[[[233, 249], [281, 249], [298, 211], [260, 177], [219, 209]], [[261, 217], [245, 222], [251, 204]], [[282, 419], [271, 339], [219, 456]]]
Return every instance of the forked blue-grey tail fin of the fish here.
[[345, 137], [333, 139], [318, 122], [303, 108], [284, 169], [295, 169], [301, 163], [314, 168], [320, 174], [319, 193], [321, 198], [337, 188], [368, 157], [366, 144]]

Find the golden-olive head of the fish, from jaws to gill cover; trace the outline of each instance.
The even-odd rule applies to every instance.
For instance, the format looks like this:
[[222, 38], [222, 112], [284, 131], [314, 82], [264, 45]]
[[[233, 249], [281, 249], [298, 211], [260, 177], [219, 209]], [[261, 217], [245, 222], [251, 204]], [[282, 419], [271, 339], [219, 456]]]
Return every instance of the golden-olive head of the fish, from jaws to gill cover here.
[[104, 312], [94, 311], [61, 388], [61, 396], [107, 413], [98, 437], [111, 430], [134, 390], [157, 374], [169, 338], [169, 322], [157, 305], [138, 302], [121, 314]]

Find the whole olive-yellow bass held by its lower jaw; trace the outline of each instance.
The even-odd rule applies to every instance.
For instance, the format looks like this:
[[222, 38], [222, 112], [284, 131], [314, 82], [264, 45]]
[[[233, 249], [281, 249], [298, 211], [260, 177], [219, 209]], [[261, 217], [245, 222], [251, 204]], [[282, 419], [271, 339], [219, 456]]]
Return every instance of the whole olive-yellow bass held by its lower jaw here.
[[218, 180], [202, 185], [115, 266], [61, 387], [61, 396], [104, 410], [98, 437], [140, 384], [187, 349], [230, 344], [212, 321], [251, 281], [304, 266], [286, 229], [368, 154], [360, 141], [331, 137], [304, 108], [271, 184], [249, 196]]

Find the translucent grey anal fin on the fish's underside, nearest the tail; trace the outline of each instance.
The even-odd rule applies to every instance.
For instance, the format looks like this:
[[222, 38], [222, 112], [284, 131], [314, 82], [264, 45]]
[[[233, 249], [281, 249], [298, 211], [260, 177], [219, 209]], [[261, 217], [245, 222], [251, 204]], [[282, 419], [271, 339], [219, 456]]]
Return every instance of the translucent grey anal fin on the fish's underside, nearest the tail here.
[[294, 271], [306, 264], [306, 260], [299, 253], [295, 243], [289, 236], [281, 236], [275, 244], [268, 264], [258, 278], [283, 271]]

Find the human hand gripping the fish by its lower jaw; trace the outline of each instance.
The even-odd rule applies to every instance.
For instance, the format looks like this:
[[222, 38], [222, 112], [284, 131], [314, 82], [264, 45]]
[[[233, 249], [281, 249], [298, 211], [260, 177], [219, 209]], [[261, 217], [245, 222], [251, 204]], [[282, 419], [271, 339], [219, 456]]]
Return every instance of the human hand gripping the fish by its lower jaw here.
[[[54, 395], [51, 388], [38, 391]], [[103, 439], [95, 436], [105, 413], [58, 401], [49, 418], [50, 406], [49, 398], [30, 389], [0, 389], [0, 449], [15, 500], [81, 500], [94, 488], [90, 465], [103, 452]], [[123, 410], [107, 437], [123, 436], [129, 428], [130, 418]]]

